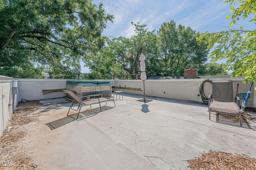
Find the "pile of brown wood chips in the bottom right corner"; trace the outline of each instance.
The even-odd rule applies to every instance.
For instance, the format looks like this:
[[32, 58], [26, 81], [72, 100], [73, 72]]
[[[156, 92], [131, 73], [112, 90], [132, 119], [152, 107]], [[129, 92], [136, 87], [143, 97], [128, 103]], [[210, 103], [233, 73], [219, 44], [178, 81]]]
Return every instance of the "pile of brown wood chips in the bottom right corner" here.
[[256, 170], [256, 159], [245, 154], [210, 150], [202, 156], [187, 160], [190, 170]]

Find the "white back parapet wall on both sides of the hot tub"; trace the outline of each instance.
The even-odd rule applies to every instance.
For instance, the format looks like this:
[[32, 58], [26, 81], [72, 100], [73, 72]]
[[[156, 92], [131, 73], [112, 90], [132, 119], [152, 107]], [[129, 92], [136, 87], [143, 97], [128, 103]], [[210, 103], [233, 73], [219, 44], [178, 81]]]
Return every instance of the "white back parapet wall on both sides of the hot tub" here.
[[[200, 84], [202, 84], [204, 80], [205, 79], [199, 78], [179, 80], [146, 80], [146, 95], [160, 98], [172, 98], [180, 100], [190, 100], [194, 102], [202, 102], [198, 94]], [[242, 82], [243, 78], [212, 78], [211, 80], [232, 80], [234, 96], [236, 96], [236, 88], [238, 83], [238, 93], [247, 93], [250, 87], [249, 83], [244, 84]], [[26, 100], [40, 100], [63, 97], [65, 96], [64, 92], [42, 94], [42, 90], [66, 88], [66, 81], [67, 80], [63, 79], [19, 79], [19, 101], [21, 101], [22, 98]], [[141, 80], [108, 81], [112, 82], [112, 86], [116, 87], [112, 90], [122, 90], [126, 93], [143, 95], [143, 83]], [[251, 97], [248, 100], [248, 107], [256, 107], [256, 95], [254, 95], [254, 87], [251, 91]], [[204, 84], [204, 89], [207, 96], [211, 94], [211, 84]]]

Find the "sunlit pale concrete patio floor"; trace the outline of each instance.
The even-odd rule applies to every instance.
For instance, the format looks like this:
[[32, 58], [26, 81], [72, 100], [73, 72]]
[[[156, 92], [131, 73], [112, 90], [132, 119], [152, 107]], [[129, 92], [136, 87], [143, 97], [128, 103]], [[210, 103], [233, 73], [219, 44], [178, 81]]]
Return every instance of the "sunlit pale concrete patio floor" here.
[[[26, 129], [24, 144], [42, 169], [188, 169], [186, 160], [209, 150], [256, 158], [256, 123], [232, 122], [203, 104], [140, 95], [96, 104], [75, 121], [70, 102], [44, 100], [40, 121]], [[113, 108], [112, 108], [113, 107]], [[82, 107], [83, 110], [90, 107]], [[83, 117], [82, 117], [83, 116]], [[216, 122], [217, 121], [217, 122]]]

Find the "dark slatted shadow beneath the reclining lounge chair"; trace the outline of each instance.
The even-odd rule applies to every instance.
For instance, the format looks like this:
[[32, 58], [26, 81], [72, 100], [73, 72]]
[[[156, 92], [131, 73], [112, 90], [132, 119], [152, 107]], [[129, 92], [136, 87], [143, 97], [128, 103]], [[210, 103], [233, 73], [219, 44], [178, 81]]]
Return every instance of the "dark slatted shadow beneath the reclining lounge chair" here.
[[[102, 111], [111, 109], [113, 107], [109, 107], [109, 106], [102, 106]], [[78, 121], [82, 120], [82, 119], [86, 119], [88, 117], [92, 117], [94, 115], [97, 115], [98, 113], [102, 112], [100, 111], [100, 108], [95, 108], [95, 109], [88, 109], [86, 111], [82, 111], [80, 112], [79, 116], [78, 116]], [[63, 117], [61, 119], [58, 119], [56, 121], [52, 121], [50, 123], [46, 123], [46, 125], [51, 129], [54, 130], [58, 127], [61, 127], [63, 125], [66, 125], [68, 123], [71, 123], [72, 121], [76, 121], [76, 117], [77, 117], [78, 113], [74, 113], [72, 115], [68, 115], [66, 117]]]

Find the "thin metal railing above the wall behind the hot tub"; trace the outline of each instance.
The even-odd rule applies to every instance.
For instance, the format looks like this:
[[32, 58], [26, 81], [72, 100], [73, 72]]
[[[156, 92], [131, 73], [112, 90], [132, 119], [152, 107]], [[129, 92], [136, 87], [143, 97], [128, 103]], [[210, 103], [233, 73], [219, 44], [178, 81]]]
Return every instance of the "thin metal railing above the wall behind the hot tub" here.
[[68, 72], [46, 72], [49, 74], [49, 78], [52, 79], [53, 74], [64, 74], [64, 75], [76, 75], [77, 79], [80, 78], [84, 78], [86, 79], [86, 76], [90, 76], [90, 79], [101, 79], [102, 77], [104, 77], [104, 79], [106, 79], [106, 77], [111, 78], [111, 79], [136, 79], [138, 80], [138, 76], [139, 74], [109, 74], [109, 75], [104, 75], [104, 74], [90, 74], [90, 73], [68, 73]]

